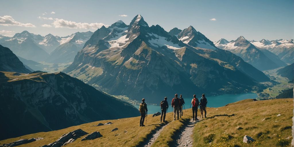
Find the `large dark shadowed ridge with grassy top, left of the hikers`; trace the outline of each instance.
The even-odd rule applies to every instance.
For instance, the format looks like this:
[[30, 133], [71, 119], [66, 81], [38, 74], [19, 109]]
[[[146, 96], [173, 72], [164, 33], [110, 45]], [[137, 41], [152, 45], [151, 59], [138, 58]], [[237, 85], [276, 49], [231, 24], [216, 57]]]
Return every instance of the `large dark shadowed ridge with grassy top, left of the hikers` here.
[[132, 105], [64, 73], [0, 72], [0, 82], [0, 140], [139, 115]]

